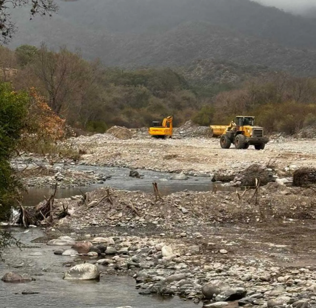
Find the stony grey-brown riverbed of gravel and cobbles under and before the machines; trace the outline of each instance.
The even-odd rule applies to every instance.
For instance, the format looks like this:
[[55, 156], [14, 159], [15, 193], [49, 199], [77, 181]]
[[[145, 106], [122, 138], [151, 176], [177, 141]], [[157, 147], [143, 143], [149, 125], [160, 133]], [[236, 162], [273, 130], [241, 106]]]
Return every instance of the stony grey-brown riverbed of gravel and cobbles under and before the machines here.
[[[179, 295], [204, 307], [316, 306], [315, 190], [291, 186], [295, 170], [314, 166], [316, 141], [275, 136], [263, 151], [237, 151], [189, 132], [190, 127], [177, 132], [179, 139], [156, 140], [145, 130], [113, 128], [72, 138], [66, 142], [87, 154], [79, 163], [64, 164], [171, 172], [161, 179], [228, 181], [233, 190], [212, 186], [160, 194], [158, 177], [155, 193], [149, 183], [146, 192], [102, 187], [55, 199], [54, 213], [67, 209], [67, 215], [50, 221], [39, 216], [45, 236], [35, 242], [53, 247], [65, 271], [86, 262], [101, 278], [133, 277], [143, 296]], [[51, 173], [37, 176], [33, 166], [24, 181], [36, 186], [40, 178], [44, 186], [69, 187], [106, 176], [55, 167], [46, 164], [40, 172]]]

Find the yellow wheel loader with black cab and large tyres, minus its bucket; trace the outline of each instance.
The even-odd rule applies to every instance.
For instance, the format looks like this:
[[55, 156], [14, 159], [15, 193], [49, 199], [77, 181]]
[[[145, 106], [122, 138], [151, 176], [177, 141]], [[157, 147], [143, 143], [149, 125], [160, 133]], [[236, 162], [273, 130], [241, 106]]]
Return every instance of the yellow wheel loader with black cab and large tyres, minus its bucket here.
[[234, 144], [238, 150], [248, 149], [249, 145], [254, 145], [256, 150], [263, 150], [268, 142], [263, 127], [255, 126], [254, 116], [236, 116], [220, 139], [222, 149], [229, 149]]

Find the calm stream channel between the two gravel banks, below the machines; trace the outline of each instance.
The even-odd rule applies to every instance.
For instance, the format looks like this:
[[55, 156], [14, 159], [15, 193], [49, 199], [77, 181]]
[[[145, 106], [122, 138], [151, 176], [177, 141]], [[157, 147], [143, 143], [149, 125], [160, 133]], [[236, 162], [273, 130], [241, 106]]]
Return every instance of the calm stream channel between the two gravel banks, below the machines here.
[[[59, 165], [62, 166], [62, 165]], [[163, 196], [170, 193], [183, 191], [185, 189], [191, 191], [212, 191], [214, 185], [217, 186], [218, 190], [224, 191], [236, 191], [236, 187], [224, 186], [214, 184], [211, 181], [211, 177], [196, 177], [190, 176], [188, 180], [175, 181], [170, 180], [172, 174], [155, 172], [149, 170], [138, 170], [139, 174], [144, 175], [143, 178], [137, 179], [129, 176], [130, 169], [128, 168], [117, 168], [117, 167], [95, 167], [95, 166], [84, 166], [84, 165], [69, 165], [67, 169], [90, 171], [94, 170], [95, 173], [101, 173], [104, 175], [112, 175], [111, 179], [108, 179], [104, 184], [95, 184], [84, 187], [76, 188], [63, 188], [58, 189], [56, 198], [68, 198], [70, 196], [81, 195], [80, 190], [85, 193], [94, 190], [98, 187], [110, 186], [116, 189], [125, 189], [130, 191], [142, 191], [146, 193], [153, 193], [153, 182], [157, 182], [159, 191]], [[240, 190], [240, 188], [238, 188]], [[24, 194], [24, 205], [32, 206], [38, 204], [43, 200], [43, 196], [49, 197], [53, 193], [51, 188], [34, 188], [30, 187], [28, 193]]]

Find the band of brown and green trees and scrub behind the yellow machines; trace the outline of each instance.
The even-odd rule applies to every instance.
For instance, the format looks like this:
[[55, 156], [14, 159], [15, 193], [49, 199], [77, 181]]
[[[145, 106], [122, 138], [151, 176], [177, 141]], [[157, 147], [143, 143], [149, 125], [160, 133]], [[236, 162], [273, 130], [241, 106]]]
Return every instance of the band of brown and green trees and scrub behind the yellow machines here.
[[0, 77], [36, 91], [71, 127], [105, 132], [113, 125], [149, 126], [173, 115], [174, 125], [228, 124], [253, 114], [268, 132], [295, 133], [316, 122], [316, 79], [264, 66], [204, 60], [188, 67], [108, 68], [66, 48], [0, 48]]

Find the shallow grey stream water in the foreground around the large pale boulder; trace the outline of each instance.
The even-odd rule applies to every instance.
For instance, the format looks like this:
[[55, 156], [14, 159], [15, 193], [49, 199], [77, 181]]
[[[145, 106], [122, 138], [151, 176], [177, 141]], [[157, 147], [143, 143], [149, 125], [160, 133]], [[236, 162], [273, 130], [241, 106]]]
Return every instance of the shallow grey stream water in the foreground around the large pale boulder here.
[[[63, 272], [68, 267], [64, 267], [63, 263], [71, 261], [73, 257], [54, 255], [53, 251], [60, 246], [31, 243], [31, 240], [43, 235], [37, 228], [29, 229], [27, 233], [22, 233], [24, 232], [22, 228], [11, 228], [11, 230], [24, 244], [39, 246], [39, 248], [25, 248], [22, 251], [10, 248], [4, 255], [5, 263], [0, 263], [0, 276], [2, 277], [6, 272], [15, 271], [20, 274], [27, 273], [36, 281], [18, 284], [0, 281], [1, 308], [115, 308], [119, 306], [193, 308], [201, 306], [191, 301], [183, 301], [179, 297], [140, 295], [135, 289], [135, 280], [128, 277], [104, 274], [99, 282], [65, 281], [62, 279]], [[29, 256], [34, 252], [42, 252], [43, 255]], [[21, 265], [21, 268], [14, 267], [17, 265]], [[40, 274], [40, 276], [35, 274]], [[40, 294], [22, 295], [23, 290], [32, 290]]]

